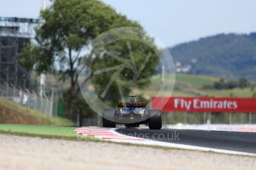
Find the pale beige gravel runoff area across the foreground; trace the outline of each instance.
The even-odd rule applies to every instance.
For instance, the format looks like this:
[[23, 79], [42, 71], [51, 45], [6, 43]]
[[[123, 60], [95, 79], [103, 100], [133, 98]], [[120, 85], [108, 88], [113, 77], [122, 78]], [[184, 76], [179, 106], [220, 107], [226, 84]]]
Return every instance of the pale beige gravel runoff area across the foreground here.
[[0, 135], [0, 169], [256, 169], [256, 157]]

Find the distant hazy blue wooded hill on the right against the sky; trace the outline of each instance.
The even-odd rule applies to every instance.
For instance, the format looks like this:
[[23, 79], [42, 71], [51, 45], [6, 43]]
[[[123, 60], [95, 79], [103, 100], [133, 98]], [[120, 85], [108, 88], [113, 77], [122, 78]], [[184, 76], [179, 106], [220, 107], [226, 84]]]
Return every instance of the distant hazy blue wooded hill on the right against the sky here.
[[256, 33], [214, 35], [169, 50], [192, 73], [256, 80]]

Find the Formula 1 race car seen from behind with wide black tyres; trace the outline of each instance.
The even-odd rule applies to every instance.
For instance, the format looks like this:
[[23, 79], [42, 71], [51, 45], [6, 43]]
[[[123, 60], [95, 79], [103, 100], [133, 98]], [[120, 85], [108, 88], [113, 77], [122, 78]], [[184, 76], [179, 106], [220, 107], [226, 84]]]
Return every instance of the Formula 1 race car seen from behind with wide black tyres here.
[[137, 101], [130, 96], [130, 101], [119, 101], [118, 109], [105, 109], [103, 111], [103, 127], [116, 127], [116, 124], [125, 124], [126, 127], [138, 127], [140, 124], [148, 125], [149, 129], [162, 128], [162, 112], [157, 109], [145, 109], [145, 101]]

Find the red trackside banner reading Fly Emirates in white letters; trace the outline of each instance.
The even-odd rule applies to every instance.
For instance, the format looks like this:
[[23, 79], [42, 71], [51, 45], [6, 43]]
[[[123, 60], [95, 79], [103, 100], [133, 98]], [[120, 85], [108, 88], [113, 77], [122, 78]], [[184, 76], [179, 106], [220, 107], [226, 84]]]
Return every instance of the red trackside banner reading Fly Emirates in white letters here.
[[152, 109], [163, 112], [255, 112], [256, 98], [151, 98]]

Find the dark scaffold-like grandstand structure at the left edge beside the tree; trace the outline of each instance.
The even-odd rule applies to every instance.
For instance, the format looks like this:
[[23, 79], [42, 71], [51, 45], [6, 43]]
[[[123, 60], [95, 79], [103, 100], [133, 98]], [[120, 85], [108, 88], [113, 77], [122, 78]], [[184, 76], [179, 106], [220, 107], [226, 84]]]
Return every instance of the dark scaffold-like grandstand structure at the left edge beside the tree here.
[[19, 65], [19, 52], [34, 37], [33, 18], [0, 17], [0, 84], [26, 88], [30, 74]]

